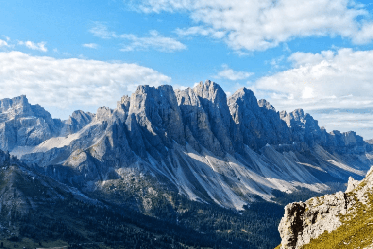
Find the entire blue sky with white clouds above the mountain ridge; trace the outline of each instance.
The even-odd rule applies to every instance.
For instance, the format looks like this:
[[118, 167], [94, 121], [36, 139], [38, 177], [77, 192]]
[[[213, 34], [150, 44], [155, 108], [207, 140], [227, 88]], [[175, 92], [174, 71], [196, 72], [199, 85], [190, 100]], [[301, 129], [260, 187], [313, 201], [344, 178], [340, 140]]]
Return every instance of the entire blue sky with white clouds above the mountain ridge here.
[[53, 118], [138, 85], [246, 87], [373, 138], [373, 5], [351, 0], [2, 0], [0, 99]]

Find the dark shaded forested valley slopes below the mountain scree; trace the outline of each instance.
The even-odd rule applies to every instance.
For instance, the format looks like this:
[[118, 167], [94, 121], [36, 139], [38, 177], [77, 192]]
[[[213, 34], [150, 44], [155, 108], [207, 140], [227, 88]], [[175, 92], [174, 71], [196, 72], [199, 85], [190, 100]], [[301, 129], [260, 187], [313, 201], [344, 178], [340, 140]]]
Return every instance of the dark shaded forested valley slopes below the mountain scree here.
[[[8, 237], [9, 240], [4, 238], [4, 248], [104, 242], [94, 247], [268, 249], [280, 242], [277, 226], [283, 207], [274, 203], [259, 200], [237, 213], [171, 192], [154, 196], [152, 202], [153, 217], [123, 206], [89, 204], [70, 194], [64, 200], [39, 206], [30, 213], [12, 215], [17, 239], [13, 238], [16, 235]], [[113, 245], [112, 241], [123, 242]]]

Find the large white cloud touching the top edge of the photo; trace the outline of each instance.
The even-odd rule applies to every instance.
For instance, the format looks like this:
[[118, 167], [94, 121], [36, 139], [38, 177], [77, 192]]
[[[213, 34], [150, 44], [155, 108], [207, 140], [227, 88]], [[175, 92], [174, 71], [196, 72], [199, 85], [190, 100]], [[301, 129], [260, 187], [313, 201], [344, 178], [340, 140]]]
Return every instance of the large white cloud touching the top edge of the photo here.
[[[294, 37], [341, 36], [356, 44], [371, 42], [373, 21], [362, 4], [352, 0], [126, 0], [145, 13], [185, 12], [195, 27], [183, 35], [214, 36], [232, 49], [266, 50]], [[199, 25], [202, 24], [202, 25]], [[215, 35], [214, 38], [217, 38]]]

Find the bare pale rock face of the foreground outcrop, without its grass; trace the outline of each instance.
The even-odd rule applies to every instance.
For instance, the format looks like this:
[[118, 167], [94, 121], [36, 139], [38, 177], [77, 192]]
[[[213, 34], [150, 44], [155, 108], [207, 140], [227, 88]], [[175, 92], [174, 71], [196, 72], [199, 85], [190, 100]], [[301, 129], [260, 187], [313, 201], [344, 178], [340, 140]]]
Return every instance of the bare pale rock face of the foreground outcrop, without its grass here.
[[345, 193], [313, 197], [305, 203], [293, 202], [285, 207], [278, 230], [281, 249], [299, 249], [324, 231], [336, 230], [342, 225], [343, 215], [354, 213], [356, 206], [369, 202], [368, 193], [373, 187], [373, 168], [361, 181], [349, 178]]

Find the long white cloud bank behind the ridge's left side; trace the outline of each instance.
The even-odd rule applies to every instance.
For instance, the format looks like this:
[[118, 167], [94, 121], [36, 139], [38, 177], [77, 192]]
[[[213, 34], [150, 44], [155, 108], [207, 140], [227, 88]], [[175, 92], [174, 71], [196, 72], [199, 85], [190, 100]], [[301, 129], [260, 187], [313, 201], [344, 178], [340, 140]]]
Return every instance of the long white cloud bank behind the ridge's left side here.
[[31, 103], [60, 111], [116, 107], [120, 97], [134, 92], [138, 85], [158, 86], [171, 80], [136, 64], [55, 59], [16, 51], [0, 53], [0, 75], [0, 98], [26, 94]]

